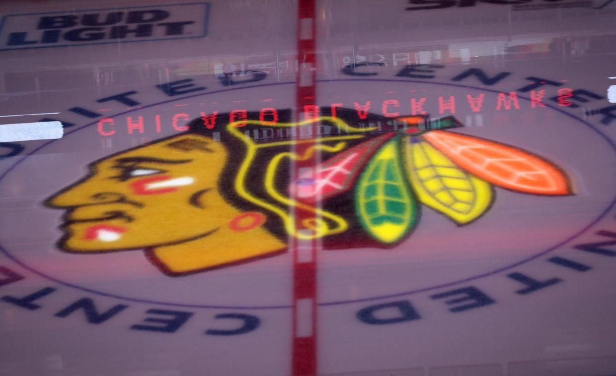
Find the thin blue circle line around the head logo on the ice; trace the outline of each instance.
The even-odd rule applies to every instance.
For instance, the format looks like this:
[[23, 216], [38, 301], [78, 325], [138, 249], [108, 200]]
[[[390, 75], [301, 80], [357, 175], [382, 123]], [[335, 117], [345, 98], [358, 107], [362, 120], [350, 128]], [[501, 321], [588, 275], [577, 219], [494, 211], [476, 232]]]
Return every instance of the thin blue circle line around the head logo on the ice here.
[[[497, 91], [497, 90], [493, 90], [493, 89], [486, 89], [486, 88], [476, 88], [474, 86], [467, 86], [467, 85], [461, 85], [461, 84], [450, 84], [450, 83], [437, 83], [437, 82], [429, 82], [429, 81], [418, 81], [418, 80], [391, 80], [391, 79], [373, 79], [373, 78], [365, 78], [365, 79], [349, 78], [349, 79], [344, 79], [344, 80], [342, 80], [342, 79], [334, 79], [334, 80], [316, 80], [316, 81], [317, 82], [321, 82], [321, 83], [345, 82], [345, 81], [349, 81], [349, 82], [352, 82], [352, 81], [359, 81], [359, 82], [375, 81], [375, 82], [433, 84], [433, 85], [440, 85], [440, 86], [453, 86], [453, 87], [457, 87], [457, 88], [472, 89], [472, 90], [477, 90], [477, 91], [493, 92], [493, 93], [496, 93], [496, 94], [500, 94], [501, 93], [501, 91]], [[149, 107], [153, 107], [153, 106], [156, 106], [156, 105], [176, 102], [177, 100], [185, 100], [185, 99], [190, 99], [190, 98], [199, 97], [199, 96], [208, 96], [210, 94], [218, 94], [218, 93], [227, 92], [227, 91], [235, 91], [235, 90], [251, 89], [251, 88], [262, 88], [262, 87], [265, 87], [265, 86], [280, 86], [280, 85], [287, 85], [287, 84], [295, 84], [295, 82], [291, 81], [291, 82], [283, 82], [283, 83], [258, 84], [258, 85], [253, 85], [253, 86], [246, 86], [246, 87], [240, 87], [240, 88], [231, 88], [231, 89], [221, 89], [221, 90], [217, 90], [217, 91], [205, 92], [205, 93], [200, 93], [200, 94], [193, 94], [192, 96], [185, 96], [185, 97], [180, 97], [180, 98], [176, 98], [176, 99], [164, 100], [163, 102], [158, 102], [158, 103], [155, 103], [155, 104], [140, 106], [139, 108], [134, 108], [134, 109], [131, 109], [131, 110], [128, 110], [128, 111], [116, 113], [115, 115], [107, 116], [107, 117], [108, 118], [115, 118], [116, 116], [121, 116], [121, 115], [124, 115], [126, 113], [131, 113], [131, 112], [143, 110], [144, 108], [149, 108]], [[518, 96], [518, 98], [519, 99], [527, 100], [529, 102], [531, 101], [530, 98], [523, 97], [523, 96]], [[606, 134], [604, 134], [601, 131], [599, 131], [599, 129], [595, 128], [593, 125], [588, 123], [588, 121], [585, 121], [582, 118], [579, 118], [578, 116], [573, 115], [572, 113], [565, 112], [564, 110], [561, 110], [561, 108], [554, 107], [554, 105], [551, 105], [551, 104], [545, 104], [545, 105], [546, 105], [546, 107], [549, 107], [552, 110], [556, 110], [557, 112], [560, 112], [560, 113], [562, 113], [562, 114], [564, 114], [566, 116], [569, 116], [573, 120], [577, 120], [580, 123], [582, 123], [583, 125], [585, 125], [588, 128], [592, 129], [595, 133], [599, 134], [599, 136], [601, 136], [607, 142], [607, 144], [609, 144], [610, 147], [612, 147], [612, 150], [614, 150], [614, 152], [616, 153], [616, 144], [614, 143], [614, 141], [612, 141], [612, 139], [607, 137]], [[65, 133], [65, 136], [67, 136], [68, 134], [71, 134], [71, 133], [75, 133], [76, 131], [80, 131], [81, 129], [87, 128], [87, 127], [92, 126], [94, 124], [97, 124], [98, 122], [99, 122], [99, 120], [96, 120], [96, 121], [93, 121], [92, 123], [88, 123], [88, 124], [83, 125], [83, 126], [81, 126], [79, 128], [71, 129], [71, 131]], [[36, 147], [35, 149], [33, 149], [28, 154], [24, 155], [23, 158], [18, 160], [14, 165], [10, 166], [6, 171], [4, 171], [4, 173], [2, 173], [0, 175], [0, 182], [2, 181], [2, 179], [4, 179], [7, 176], [7, 174], [9, 174], [11, 171], [13, 171], [20, 163], [25, 161], [26, 158], [28, 158], [28, 156], [33, 155], [33, 153], [38, 152], [39, 150], [43, 149], [44, 147], [46, 147], [47, 145], [51, 144], [54, 141], [57, 141], [57, 139], [54, 139], [54, 140], [51, 140], [51, 141], [47, 141], [44, 144], [39, 145], [39, 147]], [[361, 298], [361, 299], [353, 299], [353, 300], [329, 301], [329, 302], [325, 302], [325, 303], [317, 303], [317, 306], [335, 306], [335, 305], [340, 305], [340, 304], [361, 303], [361, 302], [364, 302], [364, 301], [382, 300], [382, 299], [387, 299], [387, 298], [395, 298], [397, 296], [411, 295], [411, 294], [415, 294], [415, 293], [426, 292], [426, 291], [429, 291], [429, 290], [437, 290], [439, 288], [449, 287], [449, 286], [452, 286], [452, 285], [463, 284], [464, 282], [469, 282], [471, 280], [476, 280], [476, 279], [492, 276], [494, 274], [498, 274], [498, 273], [506, 271], [508, 269], [516, 268], [516, 266], [520, 266], [521, 264], [525, 264], [525, 263], [527, 263], [529, 261], [535, 260], [535, 259], [539, 258], [540, 256], [543, 256], [546, 253], [554, 251], [554, 250], [556, 250], [556, 248], [559, 248], [562, 245], [564, 245], [565, 243], [568, 243], [571, 240], [575, 239], [576, 237], [582, 235], [584, 232], [588, 231], [588, 229], [590, 229], [590, 227], [594, 226], [596, 223], [601, 221], [601, 219], [603, 219], [612, 210], [612, 208], [614, 208], [614, 206], [616, 206], [616, 196], [614, 197], [612, 202], [610, 202], [609, 206], [607, 206], [607, 208], [604, 211], [601, 212], [601, 215], [599, 215], [598, 218], [596, 218], [593, 221], [591, 221], [591, 223], [589, 223], [586, 226], [584, 226], [582, 228], [582, 230], [576, 232], [575, 234], [571, 235], [570, 237], [568, 237], [567, 239], [563, 240], [562, 242], [557, 243], [553, 247], [550, 247], [550, 248], [548, 248], [546, 250], [543, 250], [540, 253], [537, 253], [537, 254], [535, 254], [533, 256], [530, 256], [529, 258], [525, 258], [524, 260], [518, 261], [517, 263], [513, 263], [513, 264], [510, 264], [510, 265], [505, 266], [503, 268], [496, 269], [495, 271], [479, 274], [479, 275], [468, 277], [468, 278], [465, 278], [465, 279], [455, 280], [453, 282], [448, 282], [446, 284], [441, 284], [441, 285], [432, 286], [432, 287], [419, 288], [419, 289], [410, 290], [410, 291], [407, 291], [407, 292], [400, 292], [400, 293], [394, 293], [394, 294], [388, 294], [388, 295], [372, 296], [370, 298]], [[78, 286], [78, 285], [75, 285], [75, 284], [71, 284], [69, 282], [64, 282], [63, 280], [57, 279], [57, 278], [52, 277], [52, 276], [48, 276], [47, 274], [44, 274], [43, 272], [39, 272], [38, 270], [31, 268], [27, 264], [23, 263], [23, 261], [19, 260], [14, 255], [12, 255], [9, 251], [7, 251], [4, 247], [2, 247], [1, 244], [0, 244], [0, 251], [5, 256], [7, 256], [7, 258], [9, 258], [10, 260], [14, 261], [19, 266], [22, 266], [22, 268], [24, 268], [24, 269], [26, 269], [26, 270], [28, 270], [30, 272], [33, 272], [34, 274], [36, 274], [36, 275], [38, 275], [40, 277], [52, 280], [53, 282], [56, 282], [57, 284], [64, 285], [64, 286], [67, 286], [67, 287], [71, 287], [71, 288], [76, 288], [77, 290], [81, 290], [81, 291], [88, 292], [88, 293], [94, 293], [96, 295], [107, 296], [107, 297], [110, 297], [110, 298], [116, 298], [116, 299], [120, 299], [120, 300], [133, 301], [135, 303], [160, 304], [160, 305], [163, 305], [163, 306], [175, 306], [175, 307], [182, 307], [182, 308], [205, 308], [205, 309], [289, 309], [289, 308], [293, 308], [293, 306], [291, 304], [288, 304], [288, 305], [278, 305], [278, 306], [217, 306], [217, 305], [210, 305], [210, 304], [169, 303], [169, 302], [163, 302], [163, 301], [146, 300], [146, 299], [139, 299], [139, 298], [129, 298], [129, 297], [126, 297], [126, 296], [115, 295], [115, 294], [106, 293], [106, 292], [100, 292], [100, 291], [97, 291], [97, 290], [92, 290], [91, 288], [81, 287], [81, 286]]]

